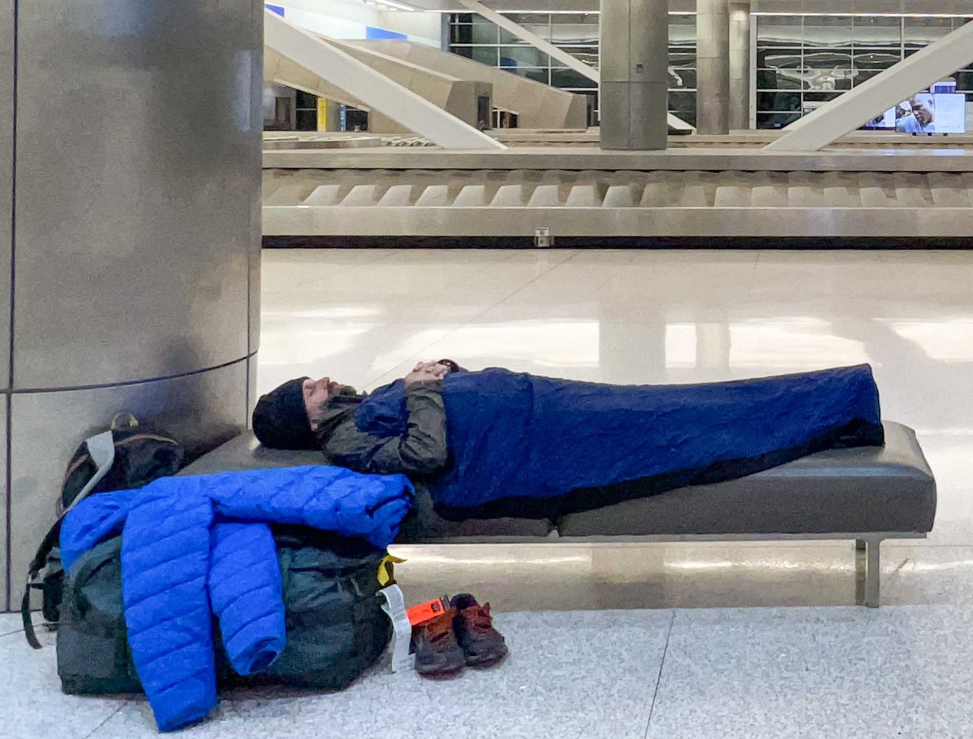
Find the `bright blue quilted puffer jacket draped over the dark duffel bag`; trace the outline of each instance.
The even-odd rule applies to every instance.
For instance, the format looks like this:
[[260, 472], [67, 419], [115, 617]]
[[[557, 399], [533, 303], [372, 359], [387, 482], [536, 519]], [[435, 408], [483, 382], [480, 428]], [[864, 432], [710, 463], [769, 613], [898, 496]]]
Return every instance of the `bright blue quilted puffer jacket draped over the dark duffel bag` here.
[[385, 547], [409, 510], [405, 475], [307, 466], [162, 477], [103, 493], [64, 518], [64, 569], [122, 533], [128, 643], [162, 731], [216, 705], [212, 617], [234, 670], [266, 669], [286, 644], [280, 571], [267, 522], [302, 524]]

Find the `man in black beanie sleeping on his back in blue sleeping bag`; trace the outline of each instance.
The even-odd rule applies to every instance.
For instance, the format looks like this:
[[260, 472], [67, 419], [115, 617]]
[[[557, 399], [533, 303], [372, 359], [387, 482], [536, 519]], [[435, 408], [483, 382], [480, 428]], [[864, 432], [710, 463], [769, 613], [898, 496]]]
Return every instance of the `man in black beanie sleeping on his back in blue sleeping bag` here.
[[608, 385], [420, 362], [368, 395], [291, 380], [253, 415], [265, 446], [404, 473], [445, 518], [556, 518], [883, 444], [867, 365], [697, 385]]

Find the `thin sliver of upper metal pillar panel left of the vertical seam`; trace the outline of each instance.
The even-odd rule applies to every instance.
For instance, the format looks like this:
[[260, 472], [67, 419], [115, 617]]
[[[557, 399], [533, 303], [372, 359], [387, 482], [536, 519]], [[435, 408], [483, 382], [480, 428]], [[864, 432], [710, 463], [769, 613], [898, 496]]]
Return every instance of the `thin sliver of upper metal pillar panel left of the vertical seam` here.
[[14, 0], [0, 0], [0, 386], [10, 383], [10, 255], [14, 155]]

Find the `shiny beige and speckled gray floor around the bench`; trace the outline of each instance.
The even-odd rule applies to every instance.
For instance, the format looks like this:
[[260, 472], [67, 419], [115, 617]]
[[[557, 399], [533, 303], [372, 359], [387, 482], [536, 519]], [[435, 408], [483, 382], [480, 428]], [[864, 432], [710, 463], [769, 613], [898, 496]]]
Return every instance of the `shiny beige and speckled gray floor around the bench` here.
[[[508, 662], [234, 693], [186, 733], [973, 736], [971, 285], [973, 252], [265, 252], [261, 391], [304, 374], [373, 389], [441, 357], [619, 383], [869, 362], [883, 416], [919, 432], [939, 510], [927, 540], [883, 545], [878, 611], [853, 605], [849, 542], [400, 546], [409, 600], [490, 601]], [[142, 700], [61, 695], [54, 650], [29, 650], [15, 616], [0, 664], [4, 739], [154, 735]]]

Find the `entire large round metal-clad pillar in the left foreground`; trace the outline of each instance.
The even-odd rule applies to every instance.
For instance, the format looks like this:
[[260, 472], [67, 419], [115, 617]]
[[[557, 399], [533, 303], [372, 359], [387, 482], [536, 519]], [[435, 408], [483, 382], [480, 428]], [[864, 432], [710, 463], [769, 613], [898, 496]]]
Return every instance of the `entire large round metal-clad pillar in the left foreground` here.
[[0, 0], [0, 610], [116, 413], [191, 455], [247, 426], [263, 12]]

